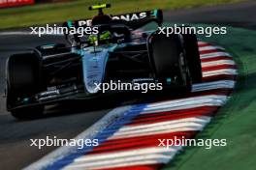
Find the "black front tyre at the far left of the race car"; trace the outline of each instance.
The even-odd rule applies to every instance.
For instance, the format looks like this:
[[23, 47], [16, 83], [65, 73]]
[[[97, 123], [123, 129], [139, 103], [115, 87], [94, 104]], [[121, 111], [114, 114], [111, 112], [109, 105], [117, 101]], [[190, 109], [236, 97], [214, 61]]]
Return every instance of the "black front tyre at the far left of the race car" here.
[[[12, 55], [7, 62], [7, 108], [17, 119], [32, 119], [43, 114], [44, 106], [16, 108], [16, 103], [41, 90], [41, 59], [35, 53]], [[24, 103], [26, 104], [26, 103]]]

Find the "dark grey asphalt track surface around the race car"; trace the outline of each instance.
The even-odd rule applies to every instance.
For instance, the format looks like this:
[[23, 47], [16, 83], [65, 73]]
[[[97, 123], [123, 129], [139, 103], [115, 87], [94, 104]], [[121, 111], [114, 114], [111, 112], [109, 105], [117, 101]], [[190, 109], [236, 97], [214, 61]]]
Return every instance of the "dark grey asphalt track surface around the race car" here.
[[[240, 3], [191, 10], [170, 11], [165, 13], [166, 21], [178, 23], [210, 23], [223, 24], [248, 29], [256, 28], [256, 2]], [[58, 138], [73, 138], [80, 131], [89, 128], [97, 120], [108, 113], [115, 103], [99, 100], [84, 104], [57, 105], [46, 111], [40, 120], [16, 121], [5, 110], [4, 78], [5, 63], [19, 49], [31, 48], [47, 42], [63, 42], [63, 38], [55, 36], [38, 38], [36, 36], [0, 36], [0, 167], [1, 169], [20, 169], [45, 156], [54, 147], [38, 150], [29, 147], [30, 138], [46, 138], [47, 135]], [[112, 99], [114, 101], [114, 99]], [[96, 104], [97, 103], [97, 104]], [[101, 105], [101, 107], [99, 107]], [[97, 109], [96, 109], [97, 108]]]

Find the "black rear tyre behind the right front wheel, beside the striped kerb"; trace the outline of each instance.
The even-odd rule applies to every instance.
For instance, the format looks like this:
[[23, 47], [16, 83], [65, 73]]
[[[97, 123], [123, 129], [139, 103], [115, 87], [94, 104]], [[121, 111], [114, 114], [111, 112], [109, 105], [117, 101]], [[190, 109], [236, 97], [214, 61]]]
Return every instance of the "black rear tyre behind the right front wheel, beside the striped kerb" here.
[[188, 60], [188, 67], [193, 83], [202, 82], [202, 66], [198, 47], [197, 36], [195, 34], [184, 34], [183, 44]]

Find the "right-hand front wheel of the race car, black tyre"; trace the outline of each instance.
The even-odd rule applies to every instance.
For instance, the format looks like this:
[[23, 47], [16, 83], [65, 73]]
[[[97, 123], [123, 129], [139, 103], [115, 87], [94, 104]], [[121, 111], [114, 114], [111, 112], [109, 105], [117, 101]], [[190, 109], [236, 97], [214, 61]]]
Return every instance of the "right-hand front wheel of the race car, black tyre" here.
[[173, 81], [183, 92], [191, 91], [190, 72], [179, 35], [156, 34], [150, 43], [156, 76], [164, 85]]

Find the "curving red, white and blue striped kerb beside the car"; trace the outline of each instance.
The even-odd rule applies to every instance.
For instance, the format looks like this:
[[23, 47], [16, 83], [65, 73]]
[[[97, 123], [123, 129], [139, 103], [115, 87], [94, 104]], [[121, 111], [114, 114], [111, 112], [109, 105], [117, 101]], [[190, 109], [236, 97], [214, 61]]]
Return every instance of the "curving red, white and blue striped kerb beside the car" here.
[[[109, 114], [118, 112], [118, 119], [97, 132], [89, 132], [90, 138], [99, 140], [99, 146], [62, 147], [26, 169], [147, 170], [167, 164], [182, 147], [160, 147], [158, 139], [193, 138], [227, 102], [235, 86], [238, 71], [233, 57], [208, 42], [199, 42], [199, 49], [203, 82], [194, 84], [191, 94], [113, 109]], [[111, 118], [108, 114], [106, 117]]]

